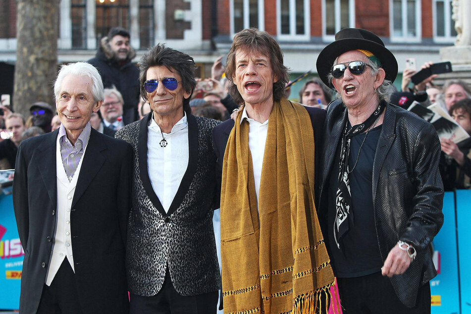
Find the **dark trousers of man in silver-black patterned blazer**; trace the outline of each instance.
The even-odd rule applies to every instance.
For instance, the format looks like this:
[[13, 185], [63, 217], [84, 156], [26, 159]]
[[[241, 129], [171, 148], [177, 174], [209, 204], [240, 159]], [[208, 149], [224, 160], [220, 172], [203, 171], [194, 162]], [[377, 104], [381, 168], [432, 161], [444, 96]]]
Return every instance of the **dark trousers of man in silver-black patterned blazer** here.
[[217, 291], [185, 297], [173, 287], [170, 273], [165, 272], [165, 279], [160, 291], [152, 297], [130, 295], [131, 314], [215, 314]]

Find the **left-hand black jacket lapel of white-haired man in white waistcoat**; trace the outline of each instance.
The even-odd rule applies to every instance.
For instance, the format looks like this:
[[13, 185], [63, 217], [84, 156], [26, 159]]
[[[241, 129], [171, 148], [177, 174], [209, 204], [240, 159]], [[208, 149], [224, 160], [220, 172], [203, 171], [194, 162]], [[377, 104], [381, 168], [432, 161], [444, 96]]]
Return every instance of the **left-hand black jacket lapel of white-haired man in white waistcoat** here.
[[48, 191], [51, 203], [57, 206], [57, 177], [56, 177], [56, 141], [59, 130], [44, 135], [44, 141], [38, 146], [41, 157], [38, 159], [38, 167], [44, 181], [44, 187]]

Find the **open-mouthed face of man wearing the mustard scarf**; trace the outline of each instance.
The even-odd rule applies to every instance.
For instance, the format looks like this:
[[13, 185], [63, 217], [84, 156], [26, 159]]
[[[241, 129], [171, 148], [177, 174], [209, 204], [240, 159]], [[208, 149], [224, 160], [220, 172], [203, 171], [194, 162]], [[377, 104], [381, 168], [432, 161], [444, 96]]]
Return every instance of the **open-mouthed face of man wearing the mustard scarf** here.
[[273, 75], [268, 56], [257, 51], [237, 50], [232, 80], [246, 104], [273, 104], [273, 83], [278, 78]]

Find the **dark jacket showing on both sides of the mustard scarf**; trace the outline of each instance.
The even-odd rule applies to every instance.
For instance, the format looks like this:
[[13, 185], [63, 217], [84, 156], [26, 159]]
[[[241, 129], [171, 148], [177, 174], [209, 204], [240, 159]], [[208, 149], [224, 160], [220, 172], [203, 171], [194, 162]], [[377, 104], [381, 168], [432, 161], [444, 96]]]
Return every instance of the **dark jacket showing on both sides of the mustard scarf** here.
[[[320, 178], [320, 172], [318, 169], [318, 164], [321, 156], [322, 148], [322, 128], [325, 120], [325, 110], [313, 107], [306, 107], [308, 110], [309, 117], [311, 118], [311, 124], [314, 129], [314, 191], [316, 194], [315, 199], [317, 200], [317, 188], [318, 180]], [[232, 127], [234, 126], [234, 120], [229, 119], [214, 128], [212, 134], [212, 141], [214, 146], [214, 153], [217, 157], [217, 166], [216, 166], [216, 179], [217, 187], [221, 187], [221, 177], [222, 177], [222, 160], [224, 159], [224, 151], [226, 149], [227, 140], [229, 139], [229, 134], [231, 133]], [[219, 194], [220, 195], [220, 194]]]

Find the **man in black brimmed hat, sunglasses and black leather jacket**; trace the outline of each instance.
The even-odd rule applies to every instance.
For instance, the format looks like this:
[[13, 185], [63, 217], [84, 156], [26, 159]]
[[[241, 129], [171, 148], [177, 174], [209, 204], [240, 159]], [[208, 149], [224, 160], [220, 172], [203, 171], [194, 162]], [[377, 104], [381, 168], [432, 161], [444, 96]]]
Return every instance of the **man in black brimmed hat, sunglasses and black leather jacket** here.
[[318, 215], [344, 313], [430, 313], [438, 136], [388, 103], [397, 61], [373, 33], [338, 32], [317, 72], [341, 99], [327, 109]]

